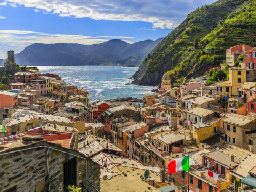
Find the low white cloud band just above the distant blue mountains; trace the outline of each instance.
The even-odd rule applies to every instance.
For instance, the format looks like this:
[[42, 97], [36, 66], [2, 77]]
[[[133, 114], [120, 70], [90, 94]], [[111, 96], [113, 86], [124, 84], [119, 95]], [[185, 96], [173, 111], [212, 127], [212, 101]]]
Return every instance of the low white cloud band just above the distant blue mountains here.
[[[111, 36], [102, 37], [105, 37], [105, 39], [85, 35], [47, 34], [44, 32], [26, 30], [0, 30], [0, 58], [7, 57], [7, 50], [15, 50], [15, 53], [19, 53], [26, 46], [34, 43], [79, 43], [84, 45], [91, 45], [96, 43], [103, 43], [111, 38], [114, 38]], [[117, 37], [121, 38], [122, 36]], [[127, 40], [127, 37], [123, 38], [123, 40], [127, 43], [137, 42], [134, 41], [135, 39]]]

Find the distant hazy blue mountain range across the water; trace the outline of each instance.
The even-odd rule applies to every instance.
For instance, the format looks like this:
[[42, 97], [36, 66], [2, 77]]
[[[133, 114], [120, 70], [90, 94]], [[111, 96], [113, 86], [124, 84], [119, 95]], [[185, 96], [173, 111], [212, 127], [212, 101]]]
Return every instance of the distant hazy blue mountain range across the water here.
[[[144, 57], [162, 40], [162, 38], [140, 41], [129, 44], [120, 39], [112, 39], [100, 44], [43, 44], [35, 43], [15, 54], [15, 62], [19, 65], [102, 65], [127, 63], [130, 65], [133, 57], [138, 66]], [[130, 60], [129, 60], [130, 57]], [[124, 60], [125, 59], [125, 60]], [[0, 61], [3, 64], [4, 60]], [[120, 64], [121, 65], [121, 64]]]

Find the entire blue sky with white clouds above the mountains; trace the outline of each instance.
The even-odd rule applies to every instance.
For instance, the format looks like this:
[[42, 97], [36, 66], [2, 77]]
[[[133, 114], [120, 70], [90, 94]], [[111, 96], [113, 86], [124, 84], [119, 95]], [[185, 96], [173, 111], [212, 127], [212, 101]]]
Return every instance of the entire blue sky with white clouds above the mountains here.
[[33, 43], [91, 45], [165, 37], [215, 0], [0, 0], [0, 58]]

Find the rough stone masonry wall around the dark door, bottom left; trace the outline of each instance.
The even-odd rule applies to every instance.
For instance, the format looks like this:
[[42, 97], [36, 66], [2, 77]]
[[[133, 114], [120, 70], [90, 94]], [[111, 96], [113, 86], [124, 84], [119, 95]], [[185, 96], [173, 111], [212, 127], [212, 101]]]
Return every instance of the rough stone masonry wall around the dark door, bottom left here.
[[[14, 145], [17, 145], [17, 143]], [[17, 151], [34, 146], [42, 147]], [[49, 149], [47, 146], [81, 156], [77, 151], [61, 148], [58, 145], [46, 141], [33, 142], [28, 145], [24, 145], [20, 142], [19, 147], [11, 148], [3, 152], [0, 151], [0, 191], [49, 191], [49, 189], [50, 191], [63, 191], [63, 165], [68, 161], [67, 157], [69, 155], [57, 150]], [[47, 150], [49, 150], [49, 175], [47, 171]], [[8, 151], [14, 151], [14, 153], [4, 154]], [[82, 158], [76, 158], [76, 185], [81, 187], [82, 174], [86, 177], [86, 161]], [[86, 159], [88, 163], [88, 180], [99, 190], [100, 167], [89, 158]]]

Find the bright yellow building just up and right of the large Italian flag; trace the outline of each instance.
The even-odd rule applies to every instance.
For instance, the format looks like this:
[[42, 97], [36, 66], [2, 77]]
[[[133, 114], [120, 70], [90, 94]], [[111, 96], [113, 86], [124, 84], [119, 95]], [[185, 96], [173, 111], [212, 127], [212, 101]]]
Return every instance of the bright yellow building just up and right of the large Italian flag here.
[[195, 144], [199, 146], [200, 142], [212, 137], [220, 129], [221, 119], [217, 119], [212, 123], [193, 124]]

